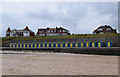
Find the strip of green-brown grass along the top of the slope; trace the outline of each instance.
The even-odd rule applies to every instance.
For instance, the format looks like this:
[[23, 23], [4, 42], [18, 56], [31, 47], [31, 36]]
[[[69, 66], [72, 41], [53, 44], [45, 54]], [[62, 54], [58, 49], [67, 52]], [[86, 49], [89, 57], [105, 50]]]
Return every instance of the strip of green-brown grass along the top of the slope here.
[[76, 34], [76, 35], [65, 35], [65, 36], [34, 36], [34, 37], [0, 37], [2, 38], [2, 44], [10, 40], [36, 40], [36, 39], [67, 39], [67, 38], [101, 38], [101, 37], [115, 37], [120, 36], [116, 33], [103, 33], [103, 34]]

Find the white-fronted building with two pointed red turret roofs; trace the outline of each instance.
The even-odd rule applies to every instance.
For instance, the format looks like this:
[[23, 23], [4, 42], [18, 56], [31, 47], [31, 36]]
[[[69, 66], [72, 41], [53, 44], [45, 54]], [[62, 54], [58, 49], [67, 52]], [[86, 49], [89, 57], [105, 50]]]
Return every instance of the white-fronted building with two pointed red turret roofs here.
[[27, 26], [25, 29], [17, 30], [10, 28], [6, 31], [6, 37], [29, 37], [29, 36], [35, 36], [35, 33], [31, 31]]

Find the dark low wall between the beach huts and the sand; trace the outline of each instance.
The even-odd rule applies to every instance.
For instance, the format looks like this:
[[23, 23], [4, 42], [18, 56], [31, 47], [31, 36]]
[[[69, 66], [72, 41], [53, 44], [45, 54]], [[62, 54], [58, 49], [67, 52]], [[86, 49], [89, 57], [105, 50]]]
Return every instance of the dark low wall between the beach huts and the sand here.
[[120, 47], [88, 47], [88, 48], [10, 48], [3, 47], [4, 50], [17, 50], [17, 51], [37, 51], [37, 52], [65, 52], [65, 53], [77, 53], [77, 54], [99, 54], [99, 55], [119, 55], [120, 56]]

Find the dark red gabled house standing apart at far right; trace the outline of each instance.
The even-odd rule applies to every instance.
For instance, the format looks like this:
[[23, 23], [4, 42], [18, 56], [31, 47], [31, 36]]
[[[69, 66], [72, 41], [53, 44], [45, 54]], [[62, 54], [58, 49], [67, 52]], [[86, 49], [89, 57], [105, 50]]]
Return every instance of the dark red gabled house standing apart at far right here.
[[105, 25], [105, 26], [100, 26], [93, 31], [93, 34], [99, 34], [99, 33], [117, 33], [117, 31], [116, 29], [113, 29], [112, 27]]

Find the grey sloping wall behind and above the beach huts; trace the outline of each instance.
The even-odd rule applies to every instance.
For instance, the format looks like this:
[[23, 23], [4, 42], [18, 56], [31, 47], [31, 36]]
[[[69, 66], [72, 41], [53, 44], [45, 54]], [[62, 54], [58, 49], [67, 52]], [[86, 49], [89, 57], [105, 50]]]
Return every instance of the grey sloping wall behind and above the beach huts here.
[[[30, 39], [30, 40], [7, 40], [3, 47], [9, 47], [10, 43], [44, 43], [44, 42], [103, 42], [104, 44], [108, 41], [112, 42], [112, 47], [120, 47], [120, 37], [101, 37], [101, 38], [66, 38], [66, 39]], [[104, 45], [103, 45], [104, 46]]]

